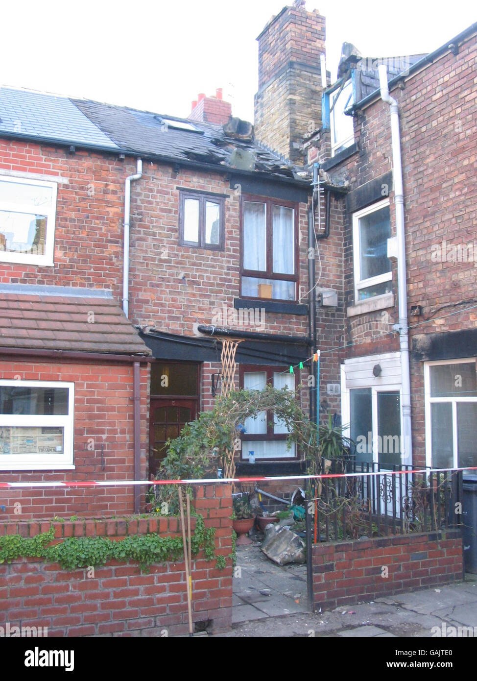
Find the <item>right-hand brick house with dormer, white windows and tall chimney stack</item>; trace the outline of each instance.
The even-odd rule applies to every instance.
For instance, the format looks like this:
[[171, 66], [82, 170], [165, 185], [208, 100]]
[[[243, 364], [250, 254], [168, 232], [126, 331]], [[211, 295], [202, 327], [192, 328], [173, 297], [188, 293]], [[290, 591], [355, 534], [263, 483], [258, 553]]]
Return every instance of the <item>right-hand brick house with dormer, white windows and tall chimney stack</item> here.
[[[359, 462], [476, 466], [477, 25], [431, 54], [369, 59], [344, 44], [335, 82], [324, 70], [318, 80], [323, 27], [297, 7], [269, 22], [259, 55], [282, 47], [256, 97], [259, 139], [288, 144], [319, 171], [316, 278], [338, 291], [337, 305], [317, 308], [320, 417], [341, 411]], [[394, 145], [380, 65], [384, 98], [389, 89], [397, 104]], [[272, 91], [293, 135], [261, 121]], [[340, 405], [328, 383], [341, 384]]]

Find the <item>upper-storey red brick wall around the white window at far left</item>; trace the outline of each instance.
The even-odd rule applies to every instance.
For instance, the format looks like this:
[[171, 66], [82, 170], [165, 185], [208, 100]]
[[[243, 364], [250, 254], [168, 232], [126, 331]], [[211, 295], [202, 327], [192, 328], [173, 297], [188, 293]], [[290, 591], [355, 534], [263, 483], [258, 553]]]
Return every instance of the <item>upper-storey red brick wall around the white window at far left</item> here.
[[1, 141], [0, 169], [59, 178], [54, 267], [0, 262], [0, 281], [112, 289], [120, 300], [127, 164], [108, 155]]

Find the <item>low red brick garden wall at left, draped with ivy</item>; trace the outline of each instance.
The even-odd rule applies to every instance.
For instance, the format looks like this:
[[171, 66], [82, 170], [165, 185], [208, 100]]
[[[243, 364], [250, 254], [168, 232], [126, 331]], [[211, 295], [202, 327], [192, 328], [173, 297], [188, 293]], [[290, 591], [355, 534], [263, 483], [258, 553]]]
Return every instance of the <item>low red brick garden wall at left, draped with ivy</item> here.
[[[216, 528], [216, 555], [231, 553], [231, 488], [204, 485], [193, 502], [206, 527]], [[0, 525], [1, 535], [34, 537], [54, 526], [61, 537], [128, 535], [179, 536], [177, 518], [129, 518], [76, 522], [19, 522]], [[193, 519], [192, 526], [195, 526]], [[180, 535], [182, 536], [182, 535]], [[200, 552], [193, 560], [193, 621], [212, 620], [212, 631], [231, 627], [232, 567], [219, 570]], [[38, 558], [0, 565], [0, 626], [48, 627], [48, 636], [174, 636], [188, 632], [184, 562], [152, 565], [141, 572], [133, 563], [110, 561], [67, 571]]]

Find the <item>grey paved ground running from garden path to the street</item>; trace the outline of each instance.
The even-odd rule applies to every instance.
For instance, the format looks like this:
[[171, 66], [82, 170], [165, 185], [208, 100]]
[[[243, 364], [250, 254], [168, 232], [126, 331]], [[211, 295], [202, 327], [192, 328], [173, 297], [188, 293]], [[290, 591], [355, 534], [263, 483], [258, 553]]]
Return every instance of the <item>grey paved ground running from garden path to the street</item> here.
[[216, 636], [477, 637], [477, 575], [466, 575], [465, 581], [450, 586], [312, 613], [306, 565], [280, 567], [256, 542], [237, 546], [232, 622], [232, 631]]

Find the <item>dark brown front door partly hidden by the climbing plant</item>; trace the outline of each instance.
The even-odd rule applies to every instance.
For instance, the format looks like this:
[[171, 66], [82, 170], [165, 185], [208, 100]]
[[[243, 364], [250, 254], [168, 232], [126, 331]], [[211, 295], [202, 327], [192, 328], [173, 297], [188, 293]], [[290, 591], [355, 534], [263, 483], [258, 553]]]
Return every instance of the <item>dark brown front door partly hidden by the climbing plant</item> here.
[[150, 402], [149, 473], [156, 475], [165, 457], [165, 443], [178, 437], [184, 425], [197, 418], [197, 400], [152, 399]]

